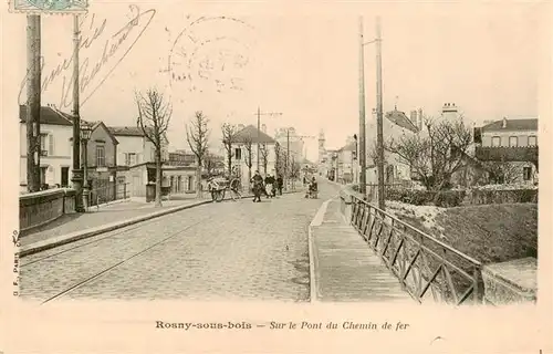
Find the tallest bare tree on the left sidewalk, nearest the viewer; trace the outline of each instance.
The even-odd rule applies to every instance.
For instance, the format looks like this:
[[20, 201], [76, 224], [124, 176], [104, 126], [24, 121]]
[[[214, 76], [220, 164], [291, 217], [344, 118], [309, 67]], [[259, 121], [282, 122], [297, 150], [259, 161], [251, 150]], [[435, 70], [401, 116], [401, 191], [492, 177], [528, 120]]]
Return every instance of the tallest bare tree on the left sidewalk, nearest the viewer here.
[[173, 105], [156, 88], [149, 88], [145, 94], [135, 93], [138, 107], [137, 126], [148, 140], [154, 144], [156, 160], [156, 201], [161, 206], [161, 149], [166, 144], [166, 132], [173, 114]]

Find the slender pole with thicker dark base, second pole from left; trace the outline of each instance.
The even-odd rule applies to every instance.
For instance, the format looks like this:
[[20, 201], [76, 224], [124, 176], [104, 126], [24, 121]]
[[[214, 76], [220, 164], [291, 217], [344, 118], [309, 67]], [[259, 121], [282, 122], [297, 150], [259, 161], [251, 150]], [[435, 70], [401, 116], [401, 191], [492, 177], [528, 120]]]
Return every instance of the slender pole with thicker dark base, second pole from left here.
[[73, 15], [73, 188], [76, 191], [75, 211], [84, 212], [83, 207], [83, 170], [81, 168], [81, 116], [79, 112], [79, 14]]

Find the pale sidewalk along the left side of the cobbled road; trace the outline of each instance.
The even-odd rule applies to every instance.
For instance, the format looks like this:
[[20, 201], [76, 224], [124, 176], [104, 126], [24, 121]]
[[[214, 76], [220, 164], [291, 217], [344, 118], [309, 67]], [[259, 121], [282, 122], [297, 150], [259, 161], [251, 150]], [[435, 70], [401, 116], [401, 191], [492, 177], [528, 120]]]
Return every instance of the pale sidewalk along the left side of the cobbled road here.
[[131, 198], [111, 202], [100, 208], [91, 207], [85, 214], [67, 214], [44, 226], [34, 228], [21, 237], [21, 246], [44, 241], [63, 235], [101, 227], [115, 221], [123, 221], [136, 217], [144, 217], [158, 211], [165, 211], [179, 206], [189, 206], [210, 200], [207, 198], [174, 197], [163, 200], [161, 208], [155, 208], [154, 202], [146, 202], [145, 198]]

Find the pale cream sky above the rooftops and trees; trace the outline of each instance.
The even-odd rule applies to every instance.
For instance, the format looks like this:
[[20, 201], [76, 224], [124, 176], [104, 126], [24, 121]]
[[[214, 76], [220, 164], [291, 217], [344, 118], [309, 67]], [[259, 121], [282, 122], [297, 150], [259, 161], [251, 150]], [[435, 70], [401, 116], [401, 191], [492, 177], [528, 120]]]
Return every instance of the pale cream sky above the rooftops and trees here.
[[[326, 146], [340, 147], [358, 131], [358, 14], [368, 42], [375, 38], [376, 13], [382, 17], [385, 111], [397, 105], [437, 115], [451, 102], [476, 123], [538, 116], [547, 40], [544, 7], [242, 11], [93, 2], [81, 19], [86, 44], [80, 51], [81, 116], [135, 125], [135, 93], [156, 87], [173, 103], [173, 148], [188, 147], [185, 126], [197, 111], [210, 119], [216, 150], [220, 125], [257, 124], [258, 107], [269, 133], [294, 126], [301, 135], [316, 136], [323, 129]], [[25, 18], [4, 20], [15, 43], [3, 58], [10, 67], [3, 72], [10, 82], [4, 91], [13, 103], [24, 103], [24, 87], [17, 97], [25, 75]], [[72, 108], [72, 25], [71, 17], [42, 20], [42, 81], [48, 82], [42, 104], [66, 112]], [[364, 56], [369, 119], [376, 105], [374, 44], [364, 46]], [[316, 138], [305, 142], [309, 157], [316, 159]]]

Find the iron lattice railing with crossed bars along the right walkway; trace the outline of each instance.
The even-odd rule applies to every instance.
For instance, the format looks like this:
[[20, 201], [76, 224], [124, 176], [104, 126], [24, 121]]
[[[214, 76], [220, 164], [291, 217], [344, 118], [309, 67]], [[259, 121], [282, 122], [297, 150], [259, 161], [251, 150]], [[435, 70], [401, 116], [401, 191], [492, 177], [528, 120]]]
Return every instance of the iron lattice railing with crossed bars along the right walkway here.
[[[351, 223], [419, 303], [429, 293], [456, 305], [482, 299], [481, 263], [355, 196]], [[343, 209], [345, 207], [343, 206]]]

